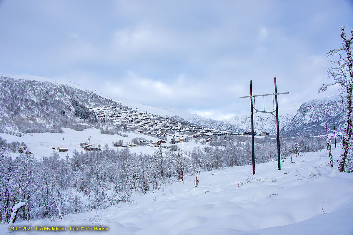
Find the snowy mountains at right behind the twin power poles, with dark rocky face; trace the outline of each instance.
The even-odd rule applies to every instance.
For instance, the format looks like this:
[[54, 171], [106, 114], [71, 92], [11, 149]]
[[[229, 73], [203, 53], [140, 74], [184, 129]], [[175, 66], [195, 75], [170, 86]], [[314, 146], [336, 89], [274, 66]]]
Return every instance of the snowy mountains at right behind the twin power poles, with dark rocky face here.
[[[267, 109], [266, 111], [273, 111]], [[297, 103], [279, 107], [280, 133], [282, 135], [325, 135], [326, 123], [329, 129], [333, 124], [339, 128], [343, 121], [342, 100], [339, 95], [312, 99], [303, 104]], [[250, 112], [222, 122], [250, 131]], [[254, 130], [276, 134], [276, 117], [268, 113], [254, 114]]]

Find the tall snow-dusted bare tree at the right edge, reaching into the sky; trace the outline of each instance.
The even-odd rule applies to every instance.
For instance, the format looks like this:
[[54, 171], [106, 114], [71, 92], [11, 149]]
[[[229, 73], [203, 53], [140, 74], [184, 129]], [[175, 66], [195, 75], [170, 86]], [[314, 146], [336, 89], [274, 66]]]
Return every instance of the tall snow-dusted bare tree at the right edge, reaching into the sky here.
[[328, 70], [328, 78], [333, 80], [332, 84], [323, 84], [318, 92], [326, 91], [328, 86], [338, 84], [339, 91], [342, 97], [346, 96], [346, 101], [343, 102], [345, 109], [345, 123], [343, 126], [342, 136], [342, 153], [338, 160], [339, 170], [345, 171], [345, 163], [348, 156], [349, 140], [352, 136], [352, 90], [353, 90], [353, 63], [352, 63], [352, 40], [353, 40], [353, 28], [351, 28], [351, 34], [349, 36], [345, 33], [345, 26], [341, 27], [341, 38], [342, 47], [338, 49], [330, 50], [326, 55], [338, 56], [338, 60], [331, 61], [334, 64], [333, 67]]

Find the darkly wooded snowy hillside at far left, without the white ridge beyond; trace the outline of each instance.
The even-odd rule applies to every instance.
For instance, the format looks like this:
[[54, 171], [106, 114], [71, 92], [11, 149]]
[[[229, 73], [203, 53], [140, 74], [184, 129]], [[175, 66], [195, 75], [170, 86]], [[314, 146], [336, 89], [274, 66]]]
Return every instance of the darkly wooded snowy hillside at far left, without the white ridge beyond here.
[[[85, 106], [103, 105], [120, 106], [113, 100], [103, 98], [94, 91], [79, 89], [74, 84], [67, 85], [34, 76], [0, 76], [2, 133], [62, 132], [61, 127], [77, 129], [79, 119], [96, 122], [94, 113]], [[79, 117], [76, 111], [85, 111], [86, 115]]]

